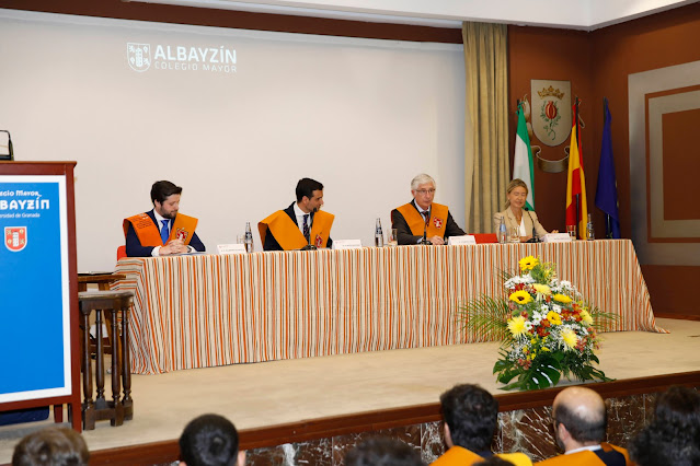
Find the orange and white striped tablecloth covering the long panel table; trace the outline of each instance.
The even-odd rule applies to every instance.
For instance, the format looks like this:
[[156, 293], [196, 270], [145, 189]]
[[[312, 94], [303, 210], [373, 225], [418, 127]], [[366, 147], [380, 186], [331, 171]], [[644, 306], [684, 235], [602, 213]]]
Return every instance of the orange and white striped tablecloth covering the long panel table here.
[[131, 371], [152, 374], [477, 341], [456, 312], [528, 255], [621, 316], [610, 330], [664, 331], [628, 240], [128, 258], [114, 289], [135, 293]]

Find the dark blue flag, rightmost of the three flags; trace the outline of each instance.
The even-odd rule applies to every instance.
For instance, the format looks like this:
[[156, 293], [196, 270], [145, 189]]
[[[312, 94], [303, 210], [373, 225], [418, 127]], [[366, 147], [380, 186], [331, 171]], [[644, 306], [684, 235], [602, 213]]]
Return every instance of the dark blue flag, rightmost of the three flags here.
[[618, 213], [618, 183], [615, 177], [615, 161], [612, 160], [612, 135], [610, 121], [612, 116], [608, 108], [608, 100], [604, 98], [605, 123], [603, 126], [603, 142], [600, 143], [600, 165], [598, 166], [598, 187], [596, 189], [596, 207], [607, 215], [606, 236], [620, 237], [620, 214]]

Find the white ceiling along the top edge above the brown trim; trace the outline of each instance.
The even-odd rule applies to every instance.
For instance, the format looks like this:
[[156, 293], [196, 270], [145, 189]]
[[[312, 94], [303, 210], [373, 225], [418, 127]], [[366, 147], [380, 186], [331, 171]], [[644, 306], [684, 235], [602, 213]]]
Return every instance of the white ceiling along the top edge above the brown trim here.
[[698, 0], [124, 0], [379, 23], [460, 27], [462, 21], [593, 31]]

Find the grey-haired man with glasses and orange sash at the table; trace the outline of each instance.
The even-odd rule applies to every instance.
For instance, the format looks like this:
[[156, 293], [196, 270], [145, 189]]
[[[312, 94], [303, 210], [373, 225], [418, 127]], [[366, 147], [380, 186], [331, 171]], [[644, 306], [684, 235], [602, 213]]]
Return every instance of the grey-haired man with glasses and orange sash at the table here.
[[445, 244], [449, 236], [463, 236], [447, 206], [433, 202], [435, 179], [422, 173], [411, 180], [413, 200], [391, 211], [391, 228], [399, 244], [418, 244], [425, 235], [431, 244]]

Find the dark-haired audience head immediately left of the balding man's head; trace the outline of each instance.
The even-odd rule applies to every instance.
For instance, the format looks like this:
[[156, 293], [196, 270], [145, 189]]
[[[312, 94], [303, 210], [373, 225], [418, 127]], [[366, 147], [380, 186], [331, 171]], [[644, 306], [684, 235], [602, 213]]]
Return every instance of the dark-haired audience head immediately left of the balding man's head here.
[[445, 441], [472, 452], [487, 451], [496, 431], [498, 401], [478, 385], [456, 385], [440, 396]]

